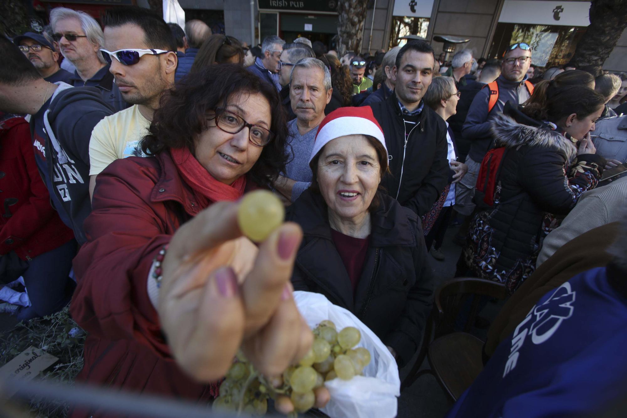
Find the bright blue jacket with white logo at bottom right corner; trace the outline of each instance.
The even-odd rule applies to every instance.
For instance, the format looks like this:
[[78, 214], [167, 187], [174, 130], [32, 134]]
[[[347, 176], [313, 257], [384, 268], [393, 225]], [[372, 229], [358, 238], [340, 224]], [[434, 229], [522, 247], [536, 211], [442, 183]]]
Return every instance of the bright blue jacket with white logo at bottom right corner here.
[[593, 417], [624, 399], [627, 298], [607, 274], [545, 294], [446, 417]]

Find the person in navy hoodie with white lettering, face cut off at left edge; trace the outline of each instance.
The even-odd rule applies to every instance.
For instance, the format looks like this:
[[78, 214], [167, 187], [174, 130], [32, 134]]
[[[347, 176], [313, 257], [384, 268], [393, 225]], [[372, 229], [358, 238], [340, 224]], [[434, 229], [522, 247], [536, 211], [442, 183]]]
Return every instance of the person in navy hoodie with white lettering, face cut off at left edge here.
[[95, 87], [41, 78], [16, 45], [0, 36], [0, 110], [31, 115], [35, 162], [61, 220], [84, 244], [89, 198], [89, 140], [93, 127], [115, 112]]

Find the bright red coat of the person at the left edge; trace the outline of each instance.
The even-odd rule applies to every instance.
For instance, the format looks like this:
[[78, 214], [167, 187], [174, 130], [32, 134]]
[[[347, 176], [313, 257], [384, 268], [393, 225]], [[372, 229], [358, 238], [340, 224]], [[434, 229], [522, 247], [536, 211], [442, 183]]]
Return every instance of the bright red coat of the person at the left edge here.
[[23, 117], [0, 122], [0, 205], [0, 255], [34, 259], [74, 238], [50, 204]]

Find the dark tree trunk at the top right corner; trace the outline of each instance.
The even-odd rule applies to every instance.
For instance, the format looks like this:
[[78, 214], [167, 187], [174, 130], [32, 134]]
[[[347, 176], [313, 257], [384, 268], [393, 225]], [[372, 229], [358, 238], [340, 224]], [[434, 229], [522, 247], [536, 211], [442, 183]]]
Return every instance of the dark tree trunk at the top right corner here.
[[590, 24], [577, 43], [572, 62], [577, 67], [596, 65], [603, 67], [618, 38], [627, 28], [626, 0], [592, 0]]

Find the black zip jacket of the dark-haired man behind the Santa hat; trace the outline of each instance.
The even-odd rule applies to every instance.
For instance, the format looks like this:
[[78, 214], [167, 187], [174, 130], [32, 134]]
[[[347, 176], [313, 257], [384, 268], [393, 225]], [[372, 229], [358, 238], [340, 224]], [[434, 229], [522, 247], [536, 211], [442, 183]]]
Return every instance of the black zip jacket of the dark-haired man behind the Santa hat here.
[[[422, 216], [440, 198], [448, 180], [446, 124], [433, 109], [424, 105], [418, 123], [406, 131], [396, 93], [371, 107], [386, 138], [392, 172], [384, 176], [381, 185], [401, 205]], [[406, 132], [408, 139], [405, 139]]]

